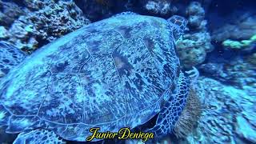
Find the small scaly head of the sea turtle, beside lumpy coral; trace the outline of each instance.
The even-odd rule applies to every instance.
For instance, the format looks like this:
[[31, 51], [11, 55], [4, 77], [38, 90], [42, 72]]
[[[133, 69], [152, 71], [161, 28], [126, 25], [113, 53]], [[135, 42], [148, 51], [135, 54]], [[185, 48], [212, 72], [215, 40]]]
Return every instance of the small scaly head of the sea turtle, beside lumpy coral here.
[[169, 24], [173, 30], [174, 38], [177, 41], [178, 38], [180, 38], [182, 36], [182, 34], [184, 33], [184, 31], [187, 29], [186, 18], [183, 18], [178, 15], [173, 15], [172, 17], [167, 19], [167, 22], [169, 22]]

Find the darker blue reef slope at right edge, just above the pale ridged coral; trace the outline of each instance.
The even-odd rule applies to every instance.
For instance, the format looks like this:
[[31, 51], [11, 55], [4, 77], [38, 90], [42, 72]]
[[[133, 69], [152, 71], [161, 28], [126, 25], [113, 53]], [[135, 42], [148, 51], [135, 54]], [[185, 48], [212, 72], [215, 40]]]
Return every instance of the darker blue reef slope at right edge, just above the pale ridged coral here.
[[202, 74], [239, 89], [251, 86], [256, 89], [256, 65], [254, 55], [249, 58], [233, 58], [230, 62], [207, 62], [199, 66]]

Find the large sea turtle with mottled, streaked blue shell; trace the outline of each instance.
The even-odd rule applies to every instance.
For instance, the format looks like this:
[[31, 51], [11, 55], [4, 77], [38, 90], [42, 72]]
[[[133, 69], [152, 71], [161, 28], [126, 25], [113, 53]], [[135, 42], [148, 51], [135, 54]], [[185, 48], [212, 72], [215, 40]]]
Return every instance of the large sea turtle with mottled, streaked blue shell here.
[[118, 14], [42, 46], [2, 78], [0, 126], [14, 143], [84, 142], [91, 127], [116, 132], [158, 114], [149, 131], [171, 133], [188, 95], [175, 53], [185, 27], [180, 16]]

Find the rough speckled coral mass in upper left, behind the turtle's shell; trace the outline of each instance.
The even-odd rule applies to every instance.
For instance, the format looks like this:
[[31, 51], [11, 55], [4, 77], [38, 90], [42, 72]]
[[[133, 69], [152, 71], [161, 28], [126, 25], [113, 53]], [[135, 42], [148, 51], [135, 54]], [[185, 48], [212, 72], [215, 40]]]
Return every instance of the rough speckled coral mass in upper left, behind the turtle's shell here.
[[2, 39], [28, 52], [90, 23], [72, 1], [27, 0], [24, 5], [29, 13], [14, 20]]

